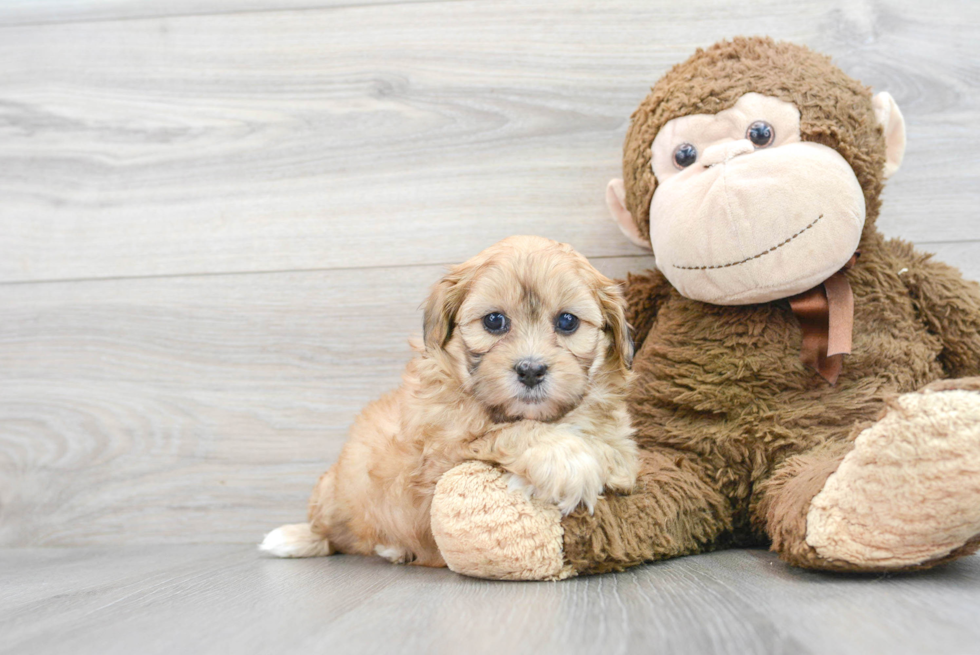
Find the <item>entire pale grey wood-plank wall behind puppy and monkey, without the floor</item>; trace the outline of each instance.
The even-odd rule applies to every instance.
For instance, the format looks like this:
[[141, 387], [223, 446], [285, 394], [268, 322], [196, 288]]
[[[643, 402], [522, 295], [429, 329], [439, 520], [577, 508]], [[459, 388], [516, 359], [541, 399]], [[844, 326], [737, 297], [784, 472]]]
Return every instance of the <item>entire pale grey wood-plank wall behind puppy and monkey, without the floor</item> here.
[[881, 225], [980, 279], [974, 3], [251, 11], [298, 4], [0, 3], [0, 544], [299, 519], [442, 264], [538, 233], [652, 265], [603, 188], [645, 89], [722, 36], [889, 89], [910, 148]]

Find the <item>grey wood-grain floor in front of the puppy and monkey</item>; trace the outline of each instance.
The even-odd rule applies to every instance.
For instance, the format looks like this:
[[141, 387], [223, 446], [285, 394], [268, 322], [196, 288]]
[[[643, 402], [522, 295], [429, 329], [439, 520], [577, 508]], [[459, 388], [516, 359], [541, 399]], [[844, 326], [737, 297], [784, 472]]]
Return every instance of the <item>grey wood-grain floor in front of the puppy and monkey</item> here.
[[560, 583], [240, 546], [0, 551], [0, 653], [976, 652], [980, 558], [892, 577], [734, 550]]

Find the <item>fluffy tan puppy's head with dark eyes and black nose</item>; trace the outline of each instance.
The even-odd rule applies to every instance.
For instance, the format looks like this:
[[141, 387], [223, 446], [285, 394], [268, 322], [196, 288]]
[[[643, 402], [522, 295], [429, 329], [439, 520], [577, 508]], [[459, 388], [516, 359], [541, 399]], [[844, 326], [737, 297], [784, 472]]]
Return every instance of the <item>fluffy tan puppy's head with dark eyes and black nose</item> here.
[[621, 387], [633, 346], [616, 284], [571, 246], [510, 237], [453, 268], [425, 303], [425, 347], [495, 421], [555, 421]]

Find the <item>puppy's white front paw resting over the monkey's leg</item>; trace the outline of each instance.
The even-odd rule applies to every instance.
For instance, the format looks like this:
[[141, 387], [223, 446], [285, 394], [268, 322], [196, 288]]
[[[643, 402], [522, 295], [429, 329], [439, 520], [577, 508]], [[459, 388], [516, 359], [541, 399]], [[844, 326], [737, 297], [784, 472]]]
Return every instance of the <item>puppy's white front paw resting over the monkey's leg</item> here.
[[[520, 476], [511, 477], [511, 489], [554, 503], [568, 514], [584, 503], [592, 512], [602, 493], [602, 465], [592, 453], [571, 443], [539, 445], [521, 457]], [[526, 486], [529, 485], [530, 489]]]

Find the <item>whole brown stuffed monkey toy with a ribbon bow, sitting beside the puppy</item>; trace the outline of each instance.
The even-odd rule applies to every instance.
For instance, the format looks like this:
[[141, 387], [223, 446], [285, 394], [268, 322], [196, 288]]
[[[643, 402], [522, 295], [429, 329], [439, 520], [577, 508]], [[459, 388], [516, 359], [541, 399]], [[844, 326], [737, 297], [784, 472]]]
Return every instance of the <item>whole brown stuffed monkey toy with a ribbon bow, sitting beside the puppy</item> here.
[[980, 287], [875, 228], [887, 93], [805, 47], [698, 50], [633, 114], [607, 201], [657, 270], [635, 330], [633, 493], [563, 516], [481, 462], [432, 527], [466, 575], [561, 579], [733, 546], [900, 571], [980, 546]]

